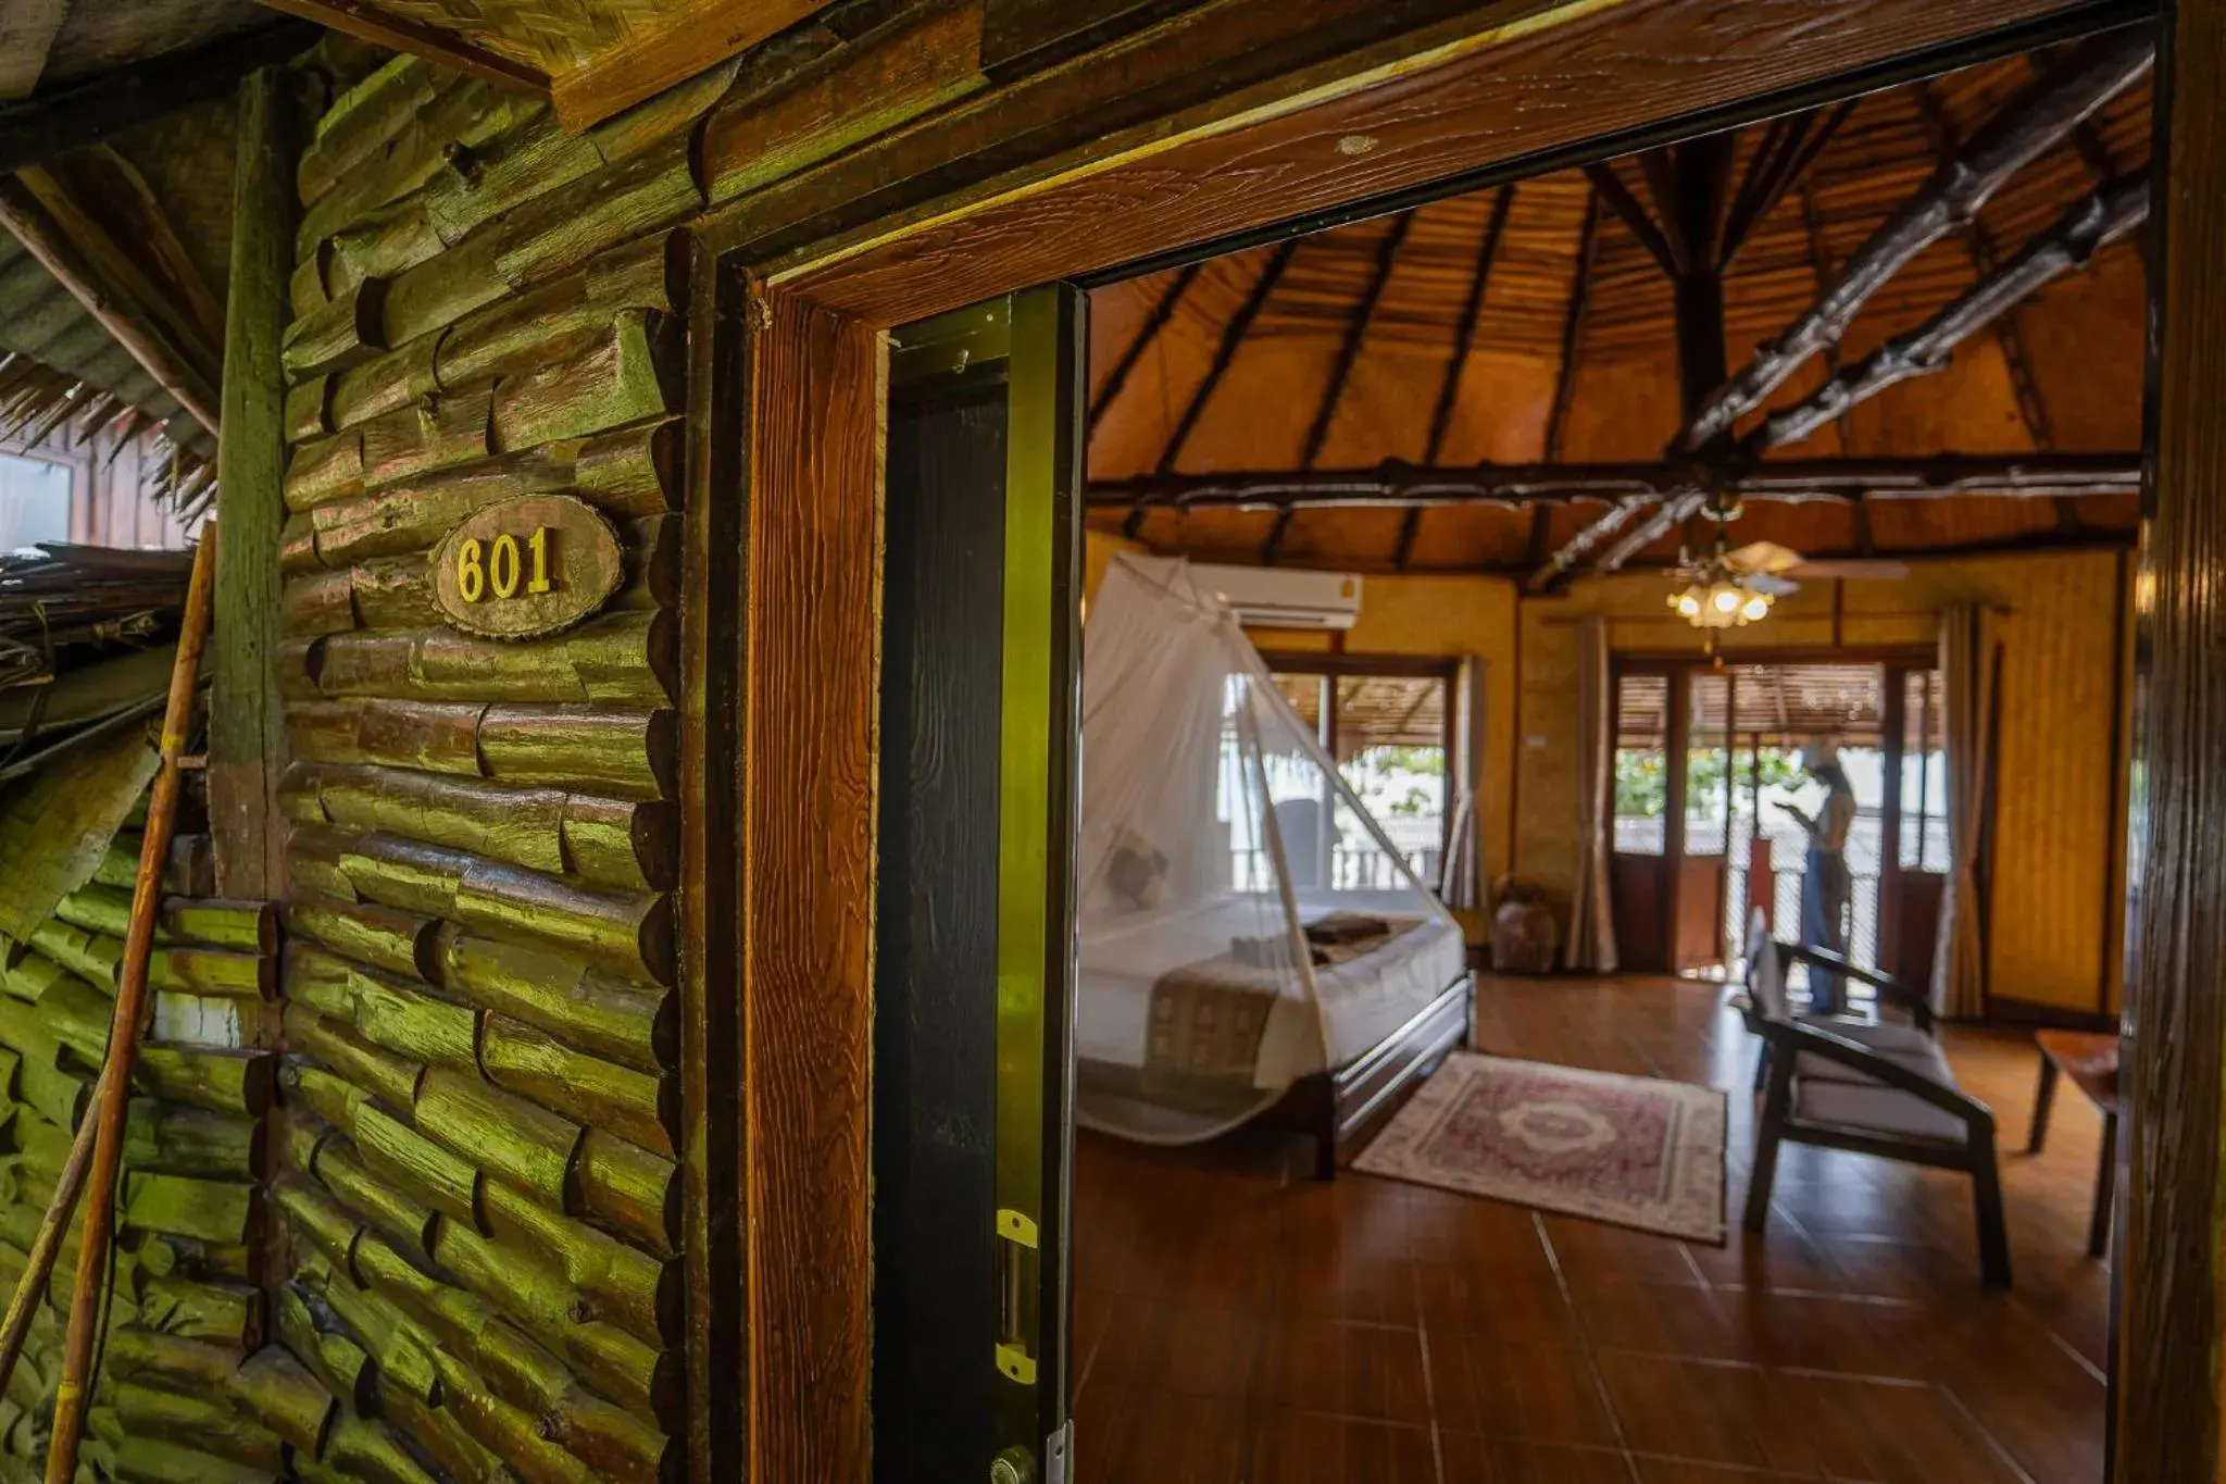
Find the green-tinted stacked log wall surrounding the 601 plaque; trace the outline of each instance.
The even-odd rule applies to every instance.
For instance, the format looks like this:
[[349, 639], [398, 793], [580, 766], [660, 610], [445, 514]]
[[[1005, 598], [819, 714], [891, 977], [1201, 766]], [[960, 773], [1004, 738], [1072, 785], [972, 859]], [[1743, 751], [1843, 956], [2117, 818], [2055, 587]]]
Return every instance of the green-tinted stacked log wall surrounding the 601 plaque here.
[[[708, 105], [710, 98], [706, 96]], [[292, 1477], [679, 1471], [674, 225], [688, 98], [583, 136], [396, 60], [323, 113], [285, 336]], [[570, 492], [612, 607], [445, 627], [430, 547]]]

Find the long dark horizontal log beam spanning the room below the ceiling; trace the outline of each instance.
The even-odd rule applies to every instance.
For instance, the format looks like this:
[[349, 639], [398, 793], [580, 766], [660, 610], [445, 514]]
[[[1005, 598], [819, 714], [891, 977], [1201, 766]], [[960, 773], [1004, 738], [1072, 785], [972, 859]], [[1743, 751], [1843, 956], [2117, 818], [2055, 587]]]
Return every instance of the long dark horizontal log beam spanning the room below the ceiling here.
[[1756, 501], [1932, 501], [1959, 494], [2050, 498], [2133, 494], [2141, 454], [1934, 454], [1921, 458], [1767, 458], [1759, 463], [1478, 463], [1373, 469], [1238, 469], [1097, 481], [1093, 509], [1291, 509], [1313, 505], [1565, 505], [1649, 501], [1710, 485]]

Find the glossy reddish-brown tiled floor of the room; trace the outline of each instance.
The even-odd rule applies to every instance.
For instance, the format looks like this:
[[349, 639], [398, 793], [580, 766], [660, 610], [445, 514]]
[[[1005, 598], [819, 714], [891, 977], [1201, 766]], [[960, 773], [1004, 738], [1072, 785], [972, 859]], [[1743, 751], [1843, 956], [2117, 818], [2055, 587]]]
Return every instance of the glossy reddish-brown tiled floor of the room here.
[[[1721, 990], [1487, 981], [1507, 1055], [1730, 1092]], [[2021, 1135], [2032, 1048], [1948, 1032]], [[2097, 1484], [2108, 1270], [2084, 1255], [2097, 1130], [2059, 1106], [2003, 1161], [2017, 1288], [1977, 1282], [1970, 1184], [1787, 1150], [1770, 1230], [1723, 1248], [1347, 1170], [1264, 1128], [1195, 1150], [1082, 1135], [1077, 1484]], [[1442, 1471], [1440, 1471], [1442, 1464]]]

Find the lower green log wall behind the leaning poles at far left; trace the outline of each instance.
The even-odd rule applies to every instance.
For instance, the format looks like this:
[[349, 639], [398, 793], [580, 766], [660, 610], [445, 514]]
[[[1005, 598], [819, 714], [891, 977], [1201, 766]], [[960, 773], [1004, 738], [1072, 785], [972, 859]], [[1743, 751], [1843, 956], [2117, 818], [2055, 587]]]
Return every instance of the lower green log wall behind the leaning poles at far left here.
[[[147, 752], [127, 736], [125, 752]], [[129, 803], [147, 770], [134, 756], [93, 756], [76, 779], [31, 779], [0, 810], [9, 843], [0, 890], [9, 894], [9, 934], [0, 937], [0, 1290], [22, 1279], [29, 1246], [69, 1157], [71, 1135], [89, 1117], [91, 1088], [107, 1055], [116, 966], [138, 868], [138, 812], [60, 810], [78, 834], [60, 830], [58, 797], [87, 797], [107, 772]], [[122, 763], [118, 770], [114, 763]], [[114, 781], [105, 783], [114, 788]], [[91, 792], [100, 792], [96, 785]], [[60, 841], [76, 845], [58, 850]], [[91, 850], [98, 863], [65, 859]], [[38, 859], [31, 859], [38, 857]], [[209, 839], [180, 837], [171, 857], [174, 892], [207, 890]], [[58, 883], [60, 877], [60, 883]], [[16, 908], [51, 903], [24, 921]], [[36, 908], [31, 908], [36, 912]], [[274, 1059], [240, 1050], [276, 990], [278, 919], [256, 903], [167, 897], [149, 983], [154, 1023], [140, 1048], [127, 1124], [114, 1288], [100, 1351], [85, 1462], [116, 1480], [232, 1480], [278, 1471], [280, 1440], [258, 1406], [292, 1379], [289, 1368], [243, 1368], [272, 1317], [256, 1286], [263, 1235], [263, 1115], [272, 1104]], [[82, 1210], [80, 1210], [82, 1217]], [[0, 1395], [0, 1480], [40, 1480], [62, 1328], [76, 1282], [76, 1224], [62, 1244], [36, 1313], [24, 1357]], [[283, 1319], [280, 1319], [283, 1322]], [[301, 1379], [307, 1379], [305, 1375]], [[225, 1395], [225, 1386], [236, 1391]], [[220, 1457], [203, 1453], [214, 1448]]]

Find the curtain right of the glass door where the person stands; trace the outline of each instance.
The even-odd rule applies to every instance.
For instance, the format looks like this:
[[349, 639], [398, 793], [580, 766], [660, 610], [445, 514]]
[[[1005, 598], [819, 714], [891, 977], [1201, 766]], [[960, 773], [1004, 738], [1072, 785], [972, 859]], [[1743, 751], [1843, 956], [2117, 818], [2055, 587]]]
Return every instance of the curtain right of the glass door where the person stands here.
[[1994, 612], [1957, 603], [1941, 614], [1941, 721], [1948, 750], [1948, 883], [1932, 952], [1932, 1008], [1986, 1015], [1986, 899], [1979, 841], [1994, 779]]

